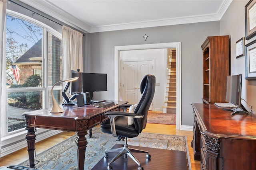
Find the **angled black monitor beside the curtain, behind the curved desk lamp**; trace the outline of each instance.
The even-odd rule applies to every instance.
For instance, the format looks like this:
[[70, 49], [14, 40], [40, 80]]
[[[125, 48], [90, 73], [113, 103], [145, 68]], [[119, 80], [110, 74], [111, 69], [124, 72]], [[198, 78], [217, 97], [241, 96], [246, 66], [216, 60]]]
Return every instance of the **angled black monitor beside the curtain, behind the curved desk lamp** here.
[[72, 81], [70, 87], [70, 94], [76, 94], [82, 92], [82, 72], [71, 70], [71, 78], [78, 77], [77, 80]]

